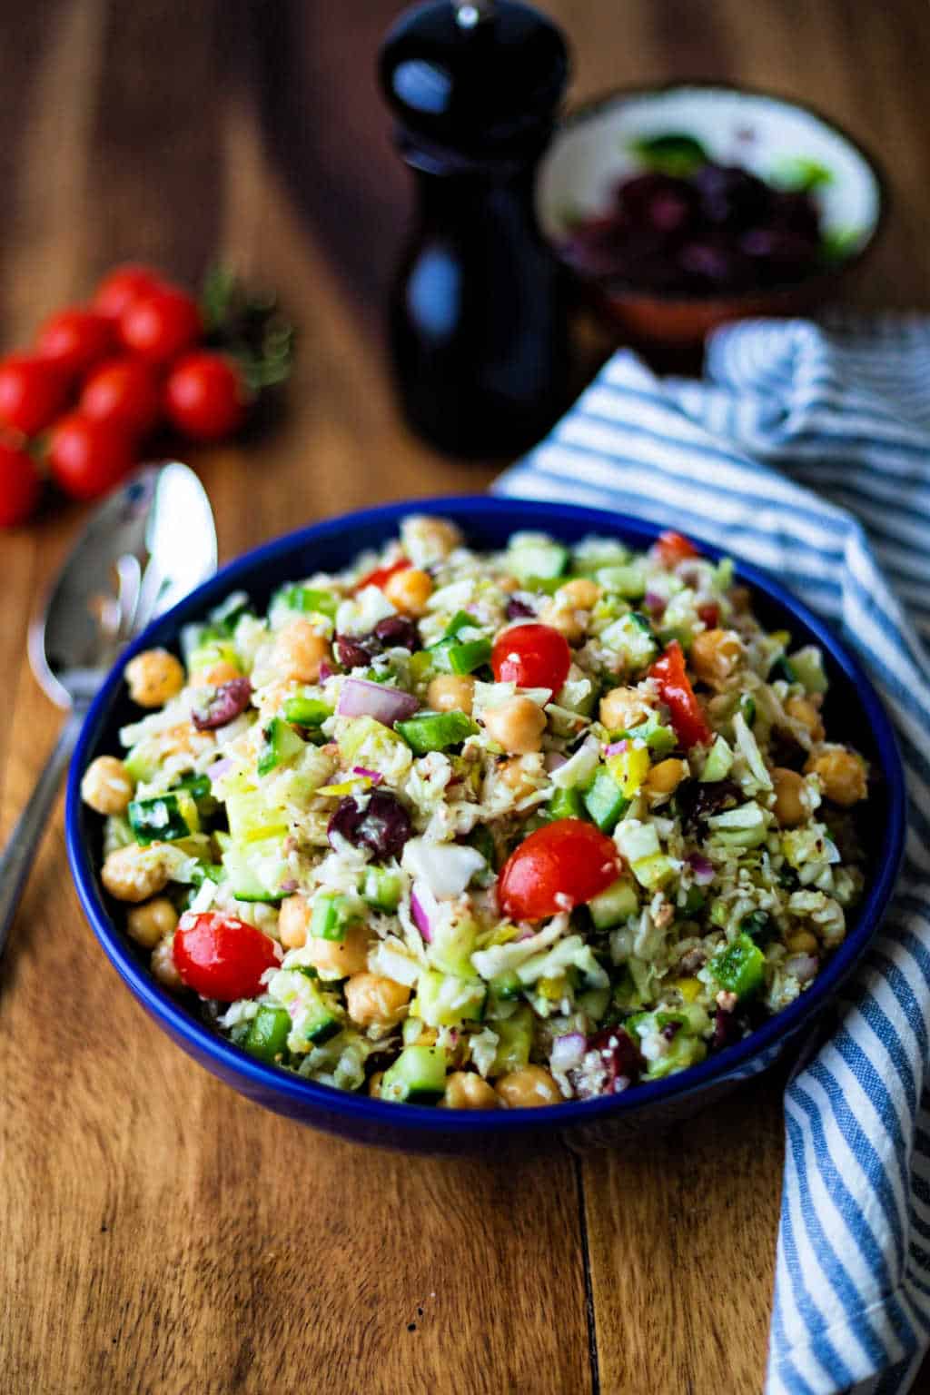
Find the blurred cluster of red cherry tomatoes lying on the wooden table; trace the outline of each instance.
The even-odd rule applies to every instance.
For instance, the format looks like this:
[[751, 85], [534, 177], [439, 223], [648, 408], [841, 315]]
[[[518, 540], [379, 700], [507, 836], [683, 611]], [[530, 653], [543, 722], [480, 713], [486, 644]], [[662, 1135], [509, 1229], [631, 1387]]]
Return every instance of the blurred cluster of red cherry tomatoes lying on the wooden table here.
[[73, 498], [105, 494], [162, 425], [191, 441], [236, 432], [248, 374], [205, 346], [206, 331], [194, 296], [125, 265], [88, 306], [52, 315], [29, 350], [0, 359], [0, 527], [35, 512], [46, 473]]

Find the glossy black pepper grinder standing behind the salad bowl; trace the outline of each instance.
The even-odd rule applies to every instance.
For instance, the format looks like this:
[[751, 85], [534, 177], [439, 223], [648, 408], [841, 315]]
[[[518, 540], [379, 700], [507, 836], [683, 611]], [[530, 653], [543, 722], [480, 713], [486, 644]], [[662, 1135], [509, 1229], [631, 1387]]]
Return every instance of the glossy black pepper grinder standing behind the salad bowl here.
[[381, 50], [418, 216], [390, 304], [402, 403], [456, 455], [513, 455], [565, 406], [566, 289], [534, 174], [567, 80], [561, 31], [517, 0], [431, 0]]

